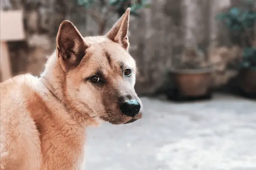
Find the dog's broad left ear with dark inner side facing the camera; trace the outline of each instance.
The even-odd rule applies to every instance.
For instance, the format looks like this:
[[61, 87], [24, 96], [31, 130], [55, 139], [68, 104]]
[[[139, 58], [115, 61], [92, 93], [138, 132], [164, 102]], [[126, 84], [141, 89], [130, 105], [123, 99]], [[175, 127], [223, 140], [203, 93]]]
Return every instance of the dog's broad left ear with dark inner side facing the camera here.
[[64, 71], [78, 66], [89, 47], [73, 23], [67, 20], [60, 24], [56, 43], [58, 60]]

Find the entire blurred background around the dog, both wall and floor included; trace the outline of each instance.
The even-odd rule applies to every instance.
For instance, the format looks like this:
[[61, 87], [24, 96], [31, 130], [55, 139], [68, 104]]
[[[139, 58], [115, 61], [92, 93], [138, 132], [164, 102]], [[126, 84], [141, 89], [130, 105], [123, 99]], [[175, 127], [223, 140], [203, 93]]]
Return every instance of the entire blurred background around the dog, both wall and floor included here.
[[144, 119], [89, 128], [88, 170], [256, 169], [256, 0], [0, 2], [1, 81], [39, 76], [63, 20], [104, 35], [131, 7]]

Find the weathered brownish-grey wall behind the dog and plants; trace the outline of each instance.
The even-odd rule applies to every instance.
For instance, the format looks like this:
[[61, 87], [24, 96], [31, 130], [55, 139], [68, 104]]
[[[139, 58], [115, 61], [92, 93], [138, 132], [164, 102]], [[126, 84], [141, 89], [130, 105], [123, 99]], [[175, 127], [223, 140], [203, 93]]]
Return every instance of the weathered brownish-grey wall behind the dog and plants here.
[[[226, 74], [226, 63], [235, 57], [233, 53], [223, 57], [228, 49], [224, 52], [222, 49], [221, 54], [216, 49], [211, 57], [208, 50], [217, 46], [216, 41], [230, 45], [227, 32], [225, 29], [219, 31], [222, 26], [214, 16], [233, 1], [151, 0], [152, 7], [141, 10], [141, 17], [131, 17], [130, 53], [138, 64], [137, 92], [163, 91], [166, 85], [169, 86], [168, 71], [181, 62], [182, 51], [194, 45], [204, 51], [204, 61], [212, 61], [216, 70], [221, 70], [221, 74], [216, 73], [216, 84], [224, 84], [230, 77]], [[42, 72], [46, 56], [55, 48], [58, 26], [65, 19], [71, 20], [84, 36], [97, 34], [96, 23], [76, 1], [1, 0], [2, 10], [21, 8], [25, 12], [27, 40], [9, 44], [14, 74], [39, 75]], [[113, 15], [108, 21], [108, 29], [117, 19]]]

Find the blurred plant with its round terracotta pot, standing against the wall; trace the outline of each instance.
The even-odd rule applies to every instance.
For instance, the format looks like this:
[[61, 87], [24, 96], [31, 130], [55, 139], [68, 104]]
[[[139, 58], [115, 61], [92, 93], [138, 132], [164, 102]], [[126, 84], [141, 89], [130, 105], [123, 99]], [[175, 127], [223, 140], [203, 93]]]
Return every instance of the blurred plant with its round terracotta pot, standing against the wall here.
[[168, 98], [174, 100], [211, 98], [212, 72], [213, 68], [202, 50], [185, 47], [180, 64], [170, 71], [174, 88], [168, 92]]

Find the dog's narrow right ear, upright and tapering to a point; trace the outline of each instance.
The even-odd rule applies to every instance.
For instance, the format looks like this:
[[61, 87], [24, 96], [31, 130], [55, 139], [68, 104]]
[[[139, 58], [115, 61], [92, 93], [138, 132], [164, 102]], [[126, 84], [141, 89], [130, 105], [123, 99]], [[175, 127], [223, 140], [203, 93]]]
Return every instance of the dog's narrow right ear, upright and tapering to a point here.
[[131, 8], [127, 8], [122, 17], [115, 23], [115, 25], [108, 31], [106, 36], [112, 41], [119, 43], [124, 49], [128, 50], [128, 28]]

